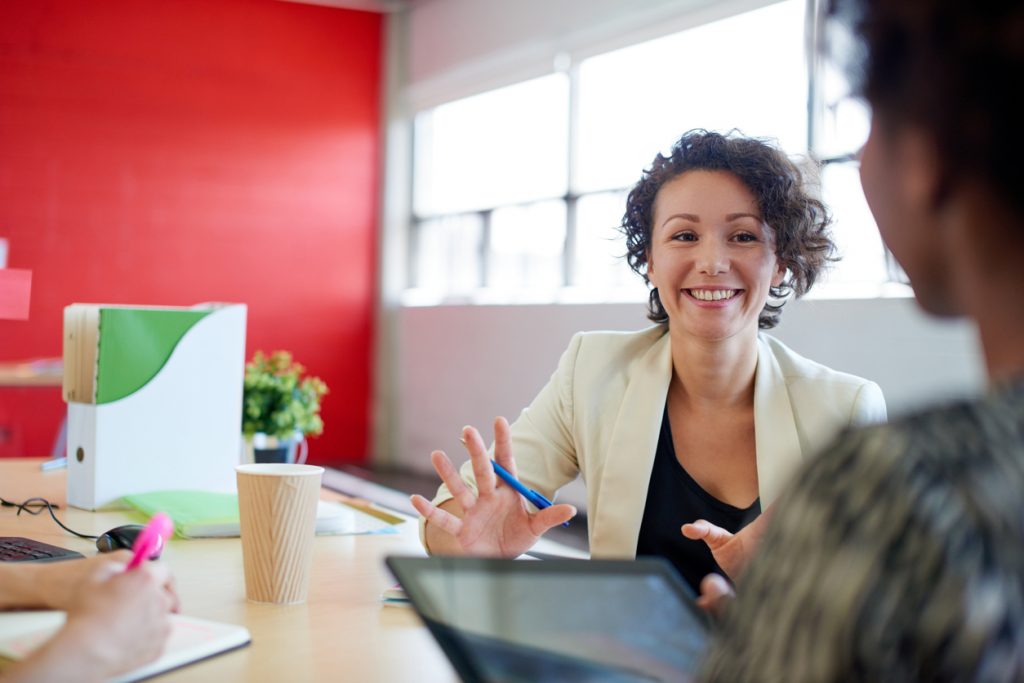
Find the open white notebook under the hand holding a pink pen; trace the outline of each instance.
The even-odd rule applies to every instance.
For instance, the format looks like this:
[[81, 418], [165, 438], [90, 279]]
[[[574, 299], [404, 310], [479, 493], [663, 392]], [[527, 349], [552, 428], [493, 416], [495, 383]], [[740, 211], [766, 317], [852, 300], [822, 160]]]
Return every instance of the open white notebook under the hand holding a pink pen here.
[[[127, 683], [206, 659], [251, 641], [245, 627], [171, 614], [173, 628], [159, 659], [111, 683]], [[22, 659], [52, 636], [65, 622], [62, 611], [13, 611], [0, 613], [0, 658]], [[2, 670], [2, 667], [0, 667]]]

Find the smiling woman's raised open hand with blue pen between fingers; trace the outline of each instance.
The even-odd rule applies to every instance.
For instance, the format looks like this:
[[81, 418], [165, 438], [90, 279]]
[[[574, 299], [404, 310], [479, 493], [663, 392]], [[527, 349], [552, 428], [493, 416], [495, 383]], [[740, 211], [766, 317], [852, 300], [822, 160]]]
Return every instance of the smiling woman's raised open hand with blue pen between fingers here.
[[[517, 557], [549, 528], [575, 515], [575, 508], [564, 504], [530, 512], [519, 494], [499, 482], [480, 433], [464, 427], [462, 438], [472, 463], [477, 493], [473, 494], [466, 485], [443, 452], [434, 451], [430, 461], [454, 500], [435, 507], [422, 496], [412, 498], [413, 506], [427, 519], [427, 545], [431, 552]], [[511, 440], [508, 422], [497, 418], [495, 460], [515, 476]]]

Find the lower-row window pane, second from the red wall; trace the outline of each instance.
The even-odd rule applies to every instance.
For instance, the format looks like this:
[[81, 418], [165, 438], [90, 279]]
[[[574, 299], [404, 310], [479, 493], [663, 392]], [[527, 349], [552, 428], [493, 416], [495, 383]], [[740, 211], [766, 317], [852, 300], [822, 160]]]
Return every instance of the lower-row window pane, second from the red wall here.
[[490, 217], [487, 286], [498, 290], [558, 289], [563, 284], [565, 202], [495, 210]]

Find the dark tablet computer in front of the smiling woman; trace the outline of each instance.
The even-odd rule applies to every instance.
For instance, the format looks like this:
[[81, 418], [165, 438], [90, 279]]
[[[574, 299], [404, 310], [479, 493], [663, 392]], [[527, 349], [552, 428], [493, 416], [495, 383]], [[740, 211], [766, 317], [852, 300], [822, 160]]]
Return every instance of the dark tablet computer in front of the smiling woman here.
[[467, 683], [686, 681], [707, 648], [708, 617], [658, 558], [386, 562]]

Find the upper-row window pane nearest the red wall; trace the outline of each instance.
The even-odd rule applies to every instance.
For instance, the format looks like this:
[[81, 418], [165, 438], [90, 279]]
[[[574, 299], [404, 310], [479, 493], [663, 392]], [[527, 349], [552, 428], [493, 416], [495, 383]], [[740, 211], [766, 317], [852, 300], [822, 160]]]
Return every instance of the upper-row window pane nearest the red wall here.
[[553, 74], [416, 117], [419, 216], [565, 195], [568, 78]]

